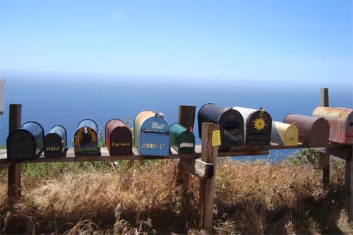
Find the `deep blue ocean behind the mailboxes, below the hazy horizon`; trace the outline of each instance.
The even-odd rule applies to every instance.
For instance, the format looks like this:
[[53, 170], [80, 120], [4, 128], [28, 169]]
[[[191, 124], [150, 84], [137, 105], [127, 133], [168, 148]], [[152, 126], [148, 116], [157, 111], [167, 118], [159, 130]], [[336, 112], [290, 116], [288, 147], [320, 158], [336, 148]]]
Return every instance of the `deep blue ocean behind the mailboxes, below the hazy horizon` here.
[[[0, 144], [8, 136], [8, 106], [22, 104], [22, 122], [37, 121], [47, 133], [54, 125], [64, 126], [71, 146], [78, 122], [93, 119], [104, 131], [110, 119], [130, 118], [143, 110], [162, 112], [169, 124], [177, 122], [179, 105], [205, 103], [221, 107], [262, 107], [274, 121], [289, 113], [311, 115], [320, 104], [320, 88], [313, 83], [258, 80], [198, 80], [141, 78], [128, 76], [25, 75], [3, 76], [6, 80], [4, 115], [0, 116]], [[352, 109], [352, 85], [330, 85], [330, 107]], [[197, 113], [196, 113], [197, 116]], [[198, 138], [197, 118], [194, 133]], [[104, 133], [102, 133], [104, 136]], [[294, 150], [271, 150], [260, 158], [283, 159]], [[256, 157], [258, 158], [258, 157]]]

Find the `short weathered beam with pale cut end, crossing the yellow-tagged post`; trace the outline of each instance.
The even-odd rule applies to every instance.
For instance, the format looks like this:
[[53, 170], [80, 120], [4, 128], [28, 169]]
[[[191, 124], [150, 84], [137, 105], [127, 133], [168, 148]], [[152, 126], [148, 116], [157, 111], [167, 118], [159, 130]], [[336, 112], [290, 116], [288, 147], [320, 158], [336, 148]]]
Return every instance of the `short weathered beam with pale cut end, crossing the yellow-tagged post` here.
[[213, 177], [213, 164], [203, 162], [201, 159], [180, 159], [179, 167], [190, 174], [198, 176], [201, 179], [210, 179]]

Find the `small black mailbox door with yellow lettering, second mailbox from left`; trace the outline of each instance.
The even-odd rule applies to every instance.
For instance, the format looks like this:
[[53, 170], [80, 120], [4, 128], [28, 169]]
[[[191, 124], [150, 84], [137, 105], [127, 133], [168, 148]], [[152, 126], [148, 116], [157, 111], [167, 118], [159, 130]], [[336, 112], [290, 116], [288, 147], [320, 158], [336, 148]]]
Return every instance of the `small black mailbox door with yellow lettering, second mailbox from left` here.
[[63, 157], [64, 140], [57, 133], [47, 133], [44, 138], [44, 157]]

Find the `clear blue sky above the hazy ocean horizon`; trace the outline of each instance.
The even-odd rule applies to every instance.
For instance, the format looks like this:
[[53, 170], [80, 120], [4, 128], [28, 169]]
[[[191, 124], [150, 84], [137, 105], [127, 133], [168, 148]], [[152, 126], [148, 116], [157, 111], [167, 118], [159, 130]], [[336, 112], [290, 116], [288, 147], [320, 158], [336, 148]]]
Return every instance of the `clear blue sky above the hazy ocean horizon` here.
[[0, 0], [8, 71], [350, 83], [352, 1]]

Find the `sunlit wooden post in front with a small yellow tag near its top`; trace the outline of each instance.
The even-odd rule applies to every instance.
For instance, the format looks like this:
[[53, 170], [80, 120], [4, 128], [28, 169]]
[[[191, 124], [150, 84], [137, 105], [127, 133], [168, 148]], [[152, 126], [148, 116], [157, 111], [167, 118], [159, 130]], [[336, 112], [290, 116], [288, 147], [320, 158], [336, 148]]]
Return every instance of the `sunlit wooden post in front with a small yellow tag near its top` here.
[[212, 232], [213, 203], [215, 202], [215, 176], [217, 169], [218, 146], [213, 146], [213, 131], [219, 130], [220, 125], [202, 123], [202, 152], [201, 159], [214, 165], [214, 174], [211, 179], [201, 179], [200, 208], [201, 227]]

